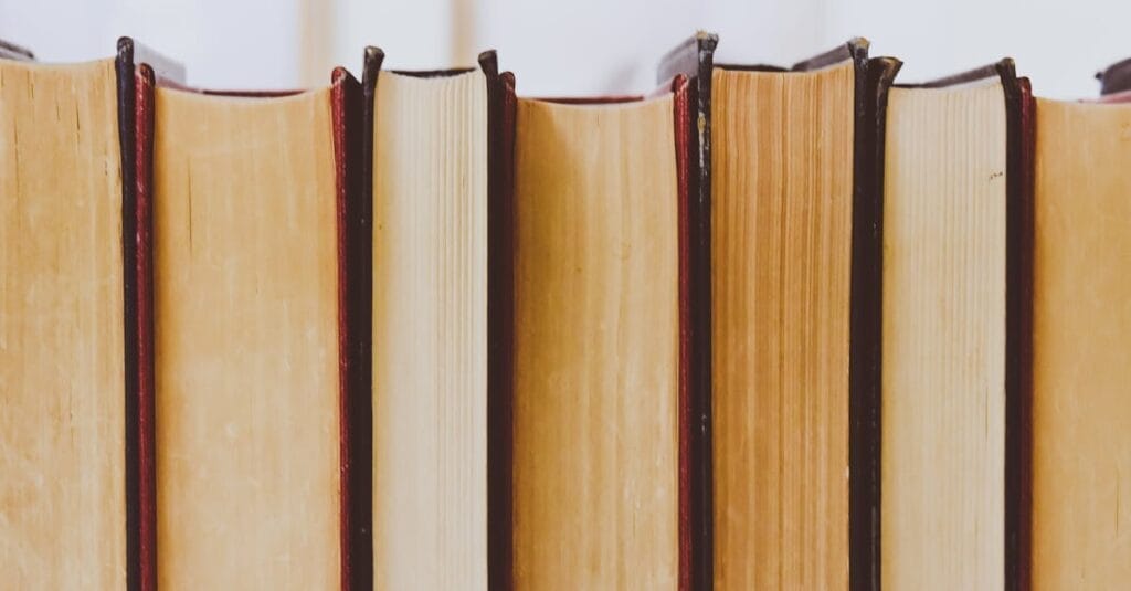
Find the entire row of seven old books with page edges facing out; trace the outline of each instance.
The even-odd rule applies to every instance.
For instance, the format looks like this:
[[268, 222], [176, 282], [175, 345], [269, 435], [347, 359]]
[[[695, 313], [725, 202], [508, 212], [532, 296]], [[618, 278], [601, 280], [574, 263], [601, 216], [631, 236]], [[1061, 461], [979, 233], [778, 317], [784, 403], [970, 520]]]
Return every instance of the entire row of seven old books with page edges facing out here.
[[1131, 62], [647, 96], [0, 44], [14, 589], [1131, 581]]

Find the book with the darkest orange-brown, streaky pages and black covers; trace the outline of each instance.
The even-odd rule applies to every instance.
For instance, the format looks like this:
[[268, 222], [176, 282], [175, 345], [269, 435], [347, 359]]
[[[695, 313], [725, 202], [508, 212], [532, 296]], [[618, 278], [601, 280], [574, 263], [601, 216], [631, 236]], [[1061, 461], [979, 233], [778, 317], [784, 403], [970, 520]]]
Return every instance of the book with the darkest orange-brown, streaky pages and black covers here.
[[893, 62], [870, 61], [854, 40], [789, 69], [709, 71], [694, 241], [710, 254], [698, 271], [710, 277], [706, 581], [872, 588], [875, 137]]

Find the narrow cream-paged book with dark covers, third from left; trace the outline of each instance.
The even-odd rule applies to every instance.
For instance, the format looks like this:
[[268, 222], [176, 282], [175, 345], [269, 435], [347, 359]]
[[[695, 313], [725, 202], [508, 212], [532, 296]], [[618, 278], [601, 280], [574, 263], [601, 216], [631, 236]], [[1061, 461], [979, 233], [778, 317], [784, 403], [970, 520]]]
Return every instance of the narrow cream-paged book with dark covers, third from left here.
[[365, 59], [375, 588], [499, 588], [501, 75], [493, 51], [443, 71], [381, 70], [375, 48]]

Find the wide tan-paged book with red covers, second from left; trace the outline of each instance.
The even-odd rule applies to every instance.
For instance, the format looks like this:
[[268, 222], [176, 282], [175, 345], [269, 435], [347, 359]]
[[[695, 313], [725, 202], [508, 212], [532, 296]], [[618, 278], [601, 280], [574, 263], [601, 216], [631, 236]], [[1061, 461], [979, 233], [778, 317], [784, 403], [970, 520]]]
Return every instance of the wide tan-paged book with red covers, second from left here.
[[360, 84], [148, 91], [156, 583], [368, 586]]

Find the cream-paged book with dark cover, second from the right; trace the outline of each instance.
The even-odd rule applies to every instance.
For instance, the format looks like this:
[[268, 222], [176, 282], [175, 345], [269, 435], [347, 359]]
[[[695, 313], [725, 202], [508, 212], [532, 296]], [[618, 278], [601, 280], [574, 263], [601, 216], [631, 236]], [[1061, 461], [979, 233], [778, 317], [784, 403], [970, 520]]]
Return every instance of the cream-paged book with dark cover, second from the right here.
[[881, 581], [1016, 588], [1029, 370], [1027, 82], [1011, 60], [887, 103]]

